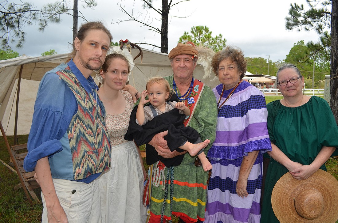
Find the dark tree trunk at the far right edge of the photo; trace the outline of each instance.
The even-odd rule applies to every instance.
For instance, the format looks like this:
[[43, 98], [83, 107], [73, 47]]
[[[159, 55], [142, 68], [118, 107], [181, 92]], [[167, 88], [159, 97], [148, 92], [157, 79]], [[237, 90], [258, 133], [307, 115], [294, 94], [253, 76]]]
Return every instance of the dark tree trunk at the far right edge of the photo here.
[[332, 1], [331, 12], [331, 109], [338, 123], [338, 1]]

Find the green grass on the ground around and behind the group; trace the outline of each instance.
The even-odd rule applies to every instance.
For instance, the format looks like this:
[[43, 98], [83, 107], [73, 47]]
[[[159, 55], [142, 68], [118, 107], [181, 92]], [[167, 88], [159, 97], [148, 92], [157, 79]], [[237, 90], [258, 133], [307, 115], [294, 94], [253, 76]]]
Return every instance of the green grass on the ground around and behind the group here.
[[[266, 103], [282, 98], [283, 96], [265, 96]], [[7, 136], [7, 138], [9, 144], [13, 145], [13, 136]], [[26, 143], [27, 139], [28, 135], [20, 135], [18, 144]], [[7, 164], [9, 162], [9, 154], [3, 137], [0, 137], [0, 159]], [[145, 159], [143, 161], [147, 170], [148, 165], [145, 163]], [[328, 172], [338, 180], [338, 156], [330, 158], [326, 166]], [[34, 202], [31, 205], [22, 188], [14, 190], [14, 187], [19, 183], [20, 181], [16, 173], [0, 163], [0, 223], [41, 222], [42, 203]], [[40, 197], [39, 191], [37, 195]], [[174, 218], [173, 222], [177, 222], [177, 219]]]

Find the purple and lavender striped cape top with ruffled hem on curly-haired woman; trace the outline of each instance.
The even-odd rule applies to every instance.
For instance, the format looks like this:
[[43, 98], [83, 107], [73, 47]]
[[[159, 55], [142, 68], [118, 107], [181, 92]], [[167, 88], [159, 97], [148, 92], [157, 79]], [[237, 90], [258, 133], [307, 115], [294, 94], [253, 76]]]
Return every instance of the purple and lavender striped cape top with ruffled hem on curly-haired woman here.
[[[216, 88], [214, 92], [219, 98]], [[208, 152], [212, 159], [235, 160], [249, 152], [271, 151], [264, 95], [246, 82], [239, 89], [218, 113], [216, 139]]]

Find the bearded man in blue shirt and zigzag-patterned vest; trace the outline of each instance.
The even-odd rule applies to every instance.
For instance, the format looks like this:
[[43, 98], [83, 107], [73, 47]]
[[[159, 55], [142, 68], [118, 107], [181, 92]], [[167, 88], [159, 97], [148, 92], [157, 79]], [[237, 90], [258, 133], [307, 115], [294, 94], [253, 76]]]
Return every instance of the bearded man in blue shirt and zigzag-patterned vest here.
[[83, 24], [70, 61], [41, 80], [24, 168], [37, 174], [42, 222], [100, 222], [96, 178], [110, 167], [110, 144], [90, 74], [102, 66], [111, 40], [101, 22]]

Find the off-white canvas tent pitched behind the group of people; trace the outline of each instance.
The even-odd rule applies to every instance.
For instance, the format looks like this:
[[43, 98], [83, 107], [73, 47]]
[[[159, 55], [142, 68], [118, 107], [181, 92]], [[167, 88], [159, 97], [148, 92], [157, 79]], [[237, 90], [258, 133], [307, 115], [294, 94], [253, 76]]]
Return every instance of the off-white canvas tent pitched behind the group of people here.
[[[134, 63], [132, 75], [129, 84], [136, 87], [137, 90], [144, 90], [147, 80], [153, 76], [168, 76], [172, 74], [170, 61], [167, 54], [142, 49], [143, 61], [141, 57]], [[133, 49], [131, 54], [136, 56], [139, 53]], [[46, 71], [51, 70], [58, 64], [63, 63], [67, 54], [58, 54], [43, 57], [21, 56], [14, 59], [0, 61], [0, 120], [6, 135], [14, 134], [17, 116], [17, 134], [28, 134], [33, 114], [33, 106], [39, 83]], [[22, 72], [20, 72], [20, 70]], [[20, 87], [18, 88], [19, 74]], [[196, 66], [194, 71], [195, 78], [202, 79], [204, 70], [202, 66]], [[214, 77], [203, 80], [211, 88], [218, 84], [218, 80], [211, 82]], [[17, 92], [19, 91], [19, 102], [16, 106]]]

